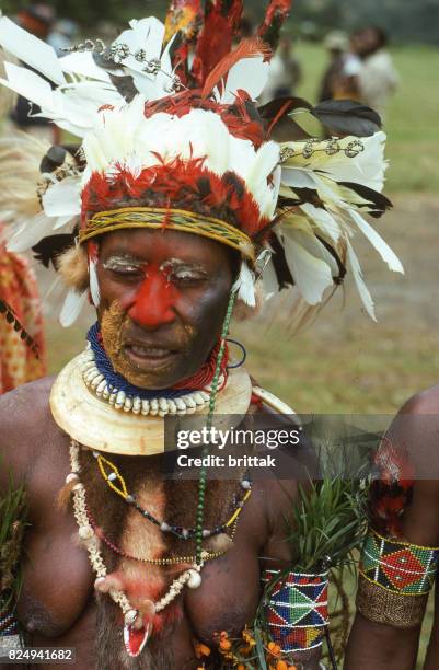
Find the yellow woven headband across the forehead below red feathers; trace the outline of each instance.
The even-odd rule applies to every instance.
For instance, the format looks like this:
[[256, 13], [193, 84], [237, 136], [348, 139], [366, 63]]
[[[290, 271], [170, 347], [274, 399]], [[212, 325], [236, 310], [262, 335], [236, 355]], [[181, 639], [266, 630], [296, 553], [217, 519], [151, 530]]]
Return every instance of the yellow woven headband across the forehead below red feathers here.
[[80, 242], [96, 235], [125, 228], [169, 229], [194, 233], [227, 244], [240, 252], [252, 263], [255, 247], [244, 232], [220, 219], [212, 219], [183, 209], [161, 209], [158, 207], [125, 207], [111, 211], [99, 211], [79, 233]]

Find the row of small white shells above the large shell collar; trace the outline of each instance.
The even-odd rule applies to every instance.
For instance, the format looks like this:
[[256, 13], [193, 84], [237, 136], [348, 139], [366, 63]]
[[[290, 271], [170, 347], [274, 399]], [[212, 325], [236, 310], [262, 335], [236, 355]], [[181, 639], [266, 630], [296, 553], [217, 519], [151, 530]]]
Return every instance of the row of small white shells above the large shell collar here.
[[[138, 395], [128, 395], [125, 391], [119, 391], [108, 384], [104, 374], [99, 370], [94, 358], [93, 349], [88, 346], [85, 351], [81, 354], [80, 370], [84, 384], [102, 401], [112, 405], [115, 409], [123, 412], [132, 412], [132, 414], [142, 414], [143, 416], [183, 416], [185, 414], [195, 414], [205, 409], [210, 401], [210, 386], [206, 386], [203, 391], [192, 391], [182, 397], [166, 398], [153, 397], [142, 400]], [[219, 388], [224, 383], [224, 377], [219, 379]]]

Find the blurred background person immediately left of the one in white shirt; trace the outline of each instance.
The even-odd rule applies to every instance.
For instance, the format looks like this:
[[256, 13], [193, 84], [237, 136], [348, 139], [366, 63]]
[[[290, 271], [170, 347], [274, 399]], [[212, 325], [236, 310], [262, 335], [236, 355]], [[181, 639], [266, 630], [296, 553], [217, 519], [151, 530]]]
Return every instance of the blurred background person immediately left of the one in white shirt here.
[[319, 102], [324, 100], [357, 100], [358, 77], [362, 68], [360, 58], [349, 50], [349, 38], [342, 31], [326, 35], [324, 47], [330, 62], [323, 74]]

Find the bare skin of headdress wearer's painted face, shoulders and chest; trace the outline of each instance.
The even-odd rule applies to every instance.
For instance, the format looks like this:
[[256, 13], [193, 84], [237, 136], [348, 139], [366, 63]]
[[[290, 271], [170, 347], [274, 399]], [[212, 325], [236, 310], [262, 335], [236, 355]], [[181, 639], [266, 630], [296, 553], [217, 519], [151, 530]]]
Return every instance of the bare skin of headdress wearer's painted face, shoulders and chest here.
[[[128, 264], [124, 265], [123, 261], [117, 267], [120, 258], [128, 258]], [[126, 377], [137, 383], [149, 380], [149, 388], [165, 388], [198, 370], [220, 334], [233, 274], [229, 250], [197, 236], [173, 231], [124, 231], [106, 235], [100, 244], [97, 264], [99, 317], [105, 322], [111, 314], [117, 317], [122, 314], [123, 327], [117, 331], [120, 334], [118, 362]], [[154, 286], [148, 286], [149, 282]], [[153, 314], [155, 321], [150, 321], [152, 317], [148, 310], [142, 309], [142, 296], [151, 300], [153, 290], [162, 304]], [[112, 311], [115, 304], [117, 309]], [[108, 324], [111, 326], [109, 321]], [[41, 380], [0, 400], [1, 453], [5, 462], [0, 484], [11, 470], [16, 481], [24, 482], [27, 493], [31, 525], [26, 534], [24, 586], [18, 612], [30, 635], [30, 644], [76, 647], [76, 668], [85, 670], [96, 662], [94, 577], [85, 551], [74, 541], [78, 529], [71, 510], [62, 511], [54, 504], [70, 464], [69, 437], [55, 424], [48, 406], [51, 383], [51, 379]], [[152, 461], [148, 458], [141, 460], [145, 461], [145, 472], [151, 471]], [[132, 461], [125, 457], [119, 464], [128, 474]], [[132, 475], [138, 476], [138, 472], [136, 470]], [[151, 476], [148, 480], [148, 474], [145, 477], [146, 482], [152, 481]], [[130, 483], [135, 477], [127, 476], [127, 480]], [[92, 486], [93, 480], [90, 482]], [[158, 483], [157, 487], [160, 485]], [[192, 483], [181, 484], [176, 494], [170, 489], [169, 495], [171, 498], [180, 496], [171, 500], [177, 511], [178, 499], [188, 499], [182, 515], [187, 515], [189, 521], [195, 515], [196, 499], [192, 493], [185, 495], [185, 486], [189, 490]], [[212, 519], [217, 513], [216, 501], [224, 492], [230, 500], [227, 487], [230, 488], [230, 482], [219, 483], [215, 496], [207, 494], [206, 507], [211, 510]], [[91, 498], [95, 505], [102, 495], [100, 492], [96, 488]], [[108, 495], [107, 492], [104, 494]], [[239, 635], [245, 624], [252, 622], [261, 593], [259, 556], [269, 557], [269, 567], [275, 569], [291, 559], [285, 542], [284, 519], [296, 495], [297, 484], [292, 481], [255, 482], [241, 515], [233, 546], [224, 556], [206, 565], [200, 588], [185, 592], [177, 621], [165, 626], [150, 643], [158, 667], [163, 665], [160, 666], [157, 659], [161, 654], [167, 654], [172, 657], [172, 667], [196, 668], [199, 662], [194, 655], [194, 638], [215, 646], [216, 632], [229, 631]], [[114, 505], [123, 505], [123, 501]], [[100, 509], [97, 505], [94, 511], [100, 513]], [[114, 511], [117, 509], [114, 507]], [[108, 519], [101, 515], [99, 521], [105, 529], [111, 529], [113, 517], [113, 512]], [[134, 542], [141, 542], [145, 528], [140, 518], [138, 525], [130, 531]], [[166, 543], [167, 536], [162, 534], [161, 542]], [[180, 547], [180, 554], [183, 551]], [[113, 556], [111, 559], [115, 563], [112, 569], [117, 569], [116, 558]], [[139, 579], [148, 580], [148, 574], [153, 575], [142, 568], [138, 573]], [[107, 596], [102, 598], [105, 608], [113, 608]], [[111, 631], [115, 629], [117, 615], [114, 609], [108, 613], [106, 627], [109, 626]], [[100, 670], [115, 667], [113, 657], [105, 661], [105, 648], [106, 645], [101, 643]], [[139, 662], [132, 667], [155, 667], [153, 661], [151, 665]], [[120, 668], [125, 667], [122, 661], [119, 663]], [[314, 656], [304, 667], [316, 669], [317, 658]]]

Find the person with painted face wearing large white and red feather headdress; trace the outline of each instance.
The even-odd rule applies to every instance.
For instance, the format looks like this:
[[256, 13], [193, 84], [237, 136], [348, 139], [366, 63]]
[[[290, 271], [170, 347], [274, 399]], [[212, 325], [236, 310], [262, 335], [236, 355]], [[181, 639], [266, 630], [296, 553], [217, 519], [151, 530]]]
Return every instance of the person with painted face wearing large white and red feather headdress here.
[[[289, 4], [272, 0], [258, 35], [232, 48], [240, 0], [173, 0], [165, 25], [131, 21], [60, 59], [0, 20], [0, 44], [42, 74], [7, 63], [1, 83], [81, 141], [76, 160], [61, 147], [42, 157], [41, 209], [9, 247], [60, 272], [63, 325], [88, 302], [97, 321], [56, 380], [0, 403], [30, 509], [18, 620], [34, 646], [76, 647], [81, 669], [235, 666], [230, 640], [244, 631], [252, 650], [263, 592], [272, 665], [319, 668], [327, 566], [294, 573], [286, 542], [299, 465], [282, 482], [268, 469], [252, 484], [242, 462], [208, 478], [205, 444], [187, 455], [195, 480], [162, 475], [172, 417], [208, 431], [274, 417], [297, 432], [229, 353], [234, 308], [255, 311], [256, 285], [294, 286], [313, 309], [348, 266], [374, 317], [356, 229], [402, 272], [362, 217], [390, 206], [379, 117], [346, 101], [255, 103]], [[333, 137], [309, 137], [297, 108]]]

